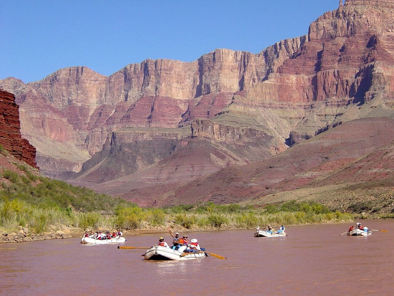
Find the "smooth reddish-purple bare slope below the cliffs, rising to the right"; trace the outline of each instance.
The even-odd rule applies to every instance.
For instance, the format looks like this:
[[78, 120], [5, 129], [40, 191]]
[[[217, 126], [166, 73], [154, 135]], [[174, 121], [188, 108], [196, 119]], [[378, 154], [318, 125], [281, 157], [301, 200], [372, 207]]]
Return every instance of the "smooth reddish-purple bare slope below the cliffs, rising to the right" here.
[[394, 170], [393, 128], [394, 119], [387, 117], [352, 120], [264, 161], [227, 166], [193, 180], [183, 178], [189, 182], [173, 184], [171, 191], [166, 188], [173, 179], [168, 174], [142, 187], [136, 185], [142, 176], [131, 174], [105, 182], [99, 190], [117, 190], [116, 194], [130, 190], [123, 194], [125, 199], [147, 205], [228, 203], [298, 188], [384, 179]]

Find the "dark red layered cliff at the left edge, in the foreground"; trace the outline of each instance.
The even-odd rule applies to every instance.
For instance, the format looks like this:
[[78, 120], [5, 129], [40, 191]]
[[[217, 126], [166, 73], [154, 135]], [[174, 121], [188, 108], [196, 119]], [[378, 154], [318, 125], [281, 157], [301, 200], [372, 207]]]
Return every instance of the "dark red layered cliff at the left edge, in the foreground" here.
[[0, 90], [0, 144], [12, 155], [36, 168], [35, 148], [20, 135], [15, 96], [3, 90]]

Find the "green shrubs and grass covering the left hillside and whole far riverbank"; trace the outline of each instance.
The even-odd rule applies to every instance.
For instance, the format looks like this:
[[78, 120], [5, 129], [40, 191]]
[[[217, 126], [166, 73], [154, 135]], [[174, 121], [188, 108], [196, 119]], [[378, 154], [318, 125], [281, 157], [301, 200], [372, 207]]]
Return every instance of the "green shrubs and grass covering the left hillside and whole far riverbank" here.
[[[1, 149], [0, 149], [1, 152]], [[316, 202], [283, 202], [264, 208], [239, 204], [177, 205], [140, 208], [122, 199], [97, 194], [85, 187], [38, 176], [26, 165], [14, 163], [23, 173], [3, 169], [0, 183], [0, 230], [16, 231], [19, 226], [41, 233], [61, 227], [81, 230], [141, 229], [147, 227], [185, 229], [236, 229], [258, 225], [301, 225], [351, 221], [353, 216], [331, 212]], [[354, 210], [364, 208], [355, 205]]]

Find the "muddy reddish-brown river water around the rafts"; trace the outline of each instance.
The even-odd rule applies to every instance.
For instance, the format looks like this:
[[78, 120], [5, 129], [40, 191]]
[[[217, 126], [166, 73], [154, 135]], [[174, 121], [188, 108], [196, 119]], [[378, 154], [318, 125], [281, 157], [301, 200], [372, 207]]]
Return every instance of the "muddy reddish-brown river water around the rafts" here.
[[[392, 295], [394, 221], [363, 225], [389, 232], [339, 236], [350, 224], [336, 224], [287, 227], [286, 238], [255, 238], [253, 230], [189, 234], [224, 260], [145, 261], [143, 249], [79, 238], [0, 244], [0, 294]], [[123, 245], [149, 247], [159, 236], [171, 242], [169, 234], [144, 234], [126, 236]]]

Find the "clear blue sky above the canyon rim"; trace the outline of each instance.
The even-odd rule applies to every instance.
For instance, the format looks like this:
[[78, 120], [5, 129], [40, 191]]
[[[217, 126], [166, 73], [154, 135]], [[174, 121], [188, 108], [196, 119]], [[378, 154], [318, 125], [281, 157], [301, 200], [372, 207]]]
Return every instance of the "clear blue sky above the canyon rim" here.
[[216, 48], [260, 52], [307, 34], [338, 0], [3, 1], [0, 79], [87, 66], [103, 75], [147, 58], [190, 62]]

